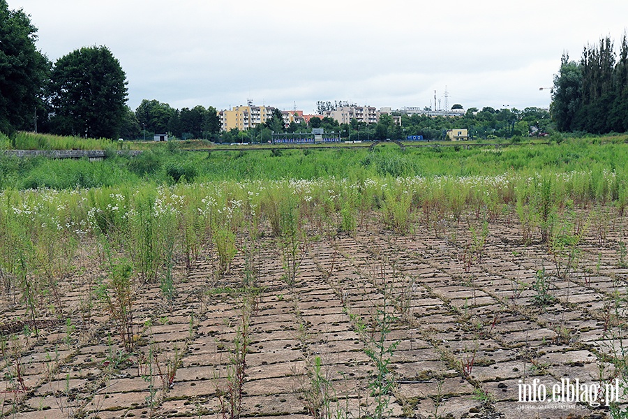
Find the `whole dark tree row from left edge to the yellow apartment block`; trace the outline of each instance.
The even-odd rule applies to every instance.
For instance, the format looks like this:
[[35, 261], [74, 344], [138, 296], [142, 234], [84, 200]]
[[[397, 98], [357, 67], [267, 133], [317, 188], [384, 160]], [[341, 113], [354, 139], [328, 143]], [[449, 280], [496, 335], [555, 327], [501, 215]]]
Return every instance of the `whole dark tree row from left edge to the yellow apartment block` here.
[[0, 0], [0, 132], [39, 131], [90, 138], [215, 139], [216, 109], [173, 109], [158, 101], [126, 105], [126, 74], [105, 46], [82, 47], [52, 63], [37, 50], [29, 15]]

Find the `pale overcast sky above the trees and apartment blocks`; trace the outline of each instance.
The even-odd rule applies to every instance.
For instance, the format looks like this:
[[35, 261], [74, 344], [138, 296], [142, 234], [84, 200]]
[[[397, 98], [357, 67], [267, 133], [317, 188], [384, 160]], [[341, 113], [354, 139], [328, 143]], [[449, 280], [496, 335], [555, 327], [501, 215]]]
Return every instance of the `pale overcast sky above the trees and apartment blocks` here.
[[316, 101], [377, 108], [547, 107], [560, 57], [611, 36], [628, 1], [8, 0], [53, 62], [105, 45], [128, 105], [256, 105], [313, 112]]

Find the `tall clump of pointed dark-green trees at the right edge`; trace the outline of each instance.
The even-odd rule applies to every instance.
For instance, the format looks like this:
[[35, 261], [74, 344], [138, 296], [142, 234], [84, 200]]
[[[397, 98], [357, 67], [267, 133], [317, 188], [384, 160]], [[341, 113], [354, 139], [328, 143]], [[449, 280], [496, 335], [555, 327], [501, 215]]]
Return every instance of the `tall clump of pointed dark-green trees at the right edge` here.
[[554, 77], [551, 114], [559, 131], [628, 131], [628, 40], [619, 57], [610, 38], [584, 48], [580, 61], [565, 53]]

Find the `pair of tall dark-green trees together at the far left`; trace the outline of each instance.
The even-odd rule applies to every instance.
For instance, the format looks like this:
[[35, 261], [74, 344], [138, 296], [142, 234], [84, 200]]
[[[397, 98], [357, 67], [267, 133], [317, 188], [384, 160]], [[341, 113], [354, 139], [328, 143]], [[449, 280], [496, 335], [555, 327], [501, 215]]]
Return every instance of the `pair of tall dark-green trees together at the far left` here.
[[82, 47], [54, 64], [37, 50], [37, 28], [0, 0], [0, 131], [115, 138], [126, 115], [126, 75], [104, 46]]

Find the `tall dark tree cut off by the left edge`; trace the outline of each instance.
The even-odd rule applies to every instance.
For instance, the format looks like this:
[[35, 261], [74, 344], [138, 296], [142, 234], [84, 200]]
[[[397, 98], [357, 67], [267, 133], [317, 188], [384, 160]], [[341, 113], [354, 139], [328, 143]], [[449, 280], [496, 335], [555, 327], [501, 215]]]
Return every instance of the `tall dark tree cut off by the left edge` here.
[[[9, 10], [0, 0], [0, 131], [34, 128], [43, 108], [43, 87], [50, 61], [35, 46], [37, 28], [29, 15]], [[43, 112], [42, 112], [43, 113]]]

